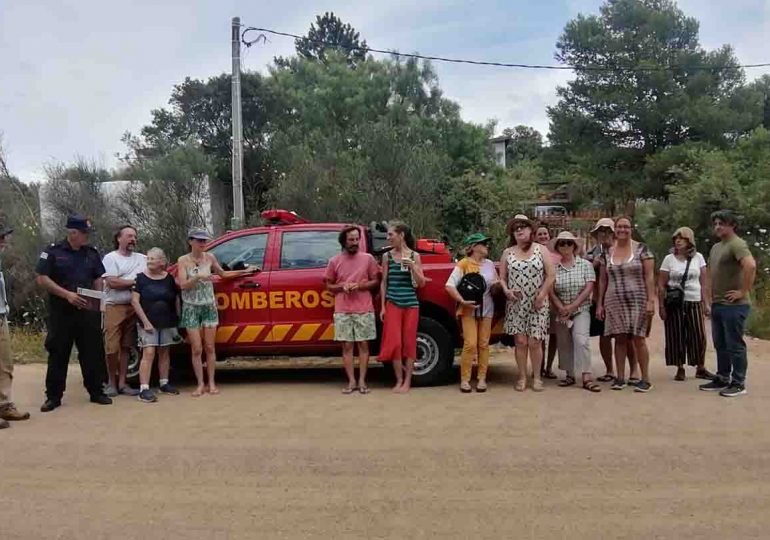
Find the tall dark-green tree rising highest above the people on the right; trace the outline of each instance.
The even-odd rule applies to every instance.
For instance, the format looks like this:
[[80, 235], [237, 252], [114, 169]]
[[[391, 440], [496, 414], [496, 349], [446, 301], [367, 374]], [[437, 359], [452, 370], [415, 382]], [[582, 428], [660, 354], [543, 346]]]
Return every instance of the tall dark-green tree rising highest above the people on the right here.
[[704, 50], [698, 22], [673, 0], [608, 0], [570, 21], [557, 50], [576, 74], [548, 109], [551, 145], [563, 169], [595, 177], [611, 208], [666, 195], [664, 179], [644, 174], [659, 150], [726, 147], [753, 127], [736, 110], [744, 76], [731, 47]]

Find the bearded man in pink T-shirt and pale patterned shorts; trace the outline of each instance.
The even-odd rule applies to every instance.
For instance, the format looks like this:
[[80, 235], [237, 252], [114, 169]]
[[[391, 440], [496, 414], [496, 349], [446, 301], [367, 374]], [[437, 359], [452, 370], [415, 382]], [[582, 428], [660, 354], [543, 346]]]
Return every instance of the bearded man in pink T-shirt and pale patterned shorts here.
[[[359, 251], [361, 231], [348, 225], [340, 232], [342, 253], [335, 255], [326, 267], [326, 289], [334, 293], [334, 340], [342, 342], [342, 360], [348, 376], [343, 394], [356, 390], [368, 394], [366, 368], [369, 365], [369, 341], [377, 337], [374, 302], [371, 291], [380, 284], [379, 267], [369, 253]], [[353, 367], [355, 345], [358, 344], [359, 378]]]

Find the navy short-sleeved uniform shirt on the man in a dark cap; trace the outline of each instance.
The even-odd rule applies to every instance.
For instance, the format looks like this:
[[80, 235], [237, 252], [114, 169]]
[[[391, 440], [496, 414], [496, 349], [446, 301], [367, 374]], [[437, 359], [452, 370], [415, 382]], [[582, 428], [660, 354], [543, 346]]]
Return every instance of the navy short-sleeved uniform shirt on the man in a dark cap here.
[[[76, 250], [72, 249], [69, 242], [62, 240], [43, 250], [35, 272], [41, 276], [48, 276], [54, 283], [68, 291], [77, 292], [78, 287], [93, 289], [94, 280], [104, 275], [104, 266], [95, 248], [83, 246]], [[61, 300], [51, 295], [51, 300], [56, 299]]]

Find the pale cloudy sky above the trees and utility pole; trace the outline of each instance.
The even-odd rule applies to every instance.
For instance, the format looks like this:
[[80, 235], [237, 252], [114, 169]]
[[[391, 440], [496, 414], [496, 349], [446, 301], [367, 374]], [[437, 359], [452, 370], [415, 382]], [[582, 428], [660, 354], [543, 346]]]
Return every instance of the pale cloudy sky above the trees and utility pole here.
[[[518, 63], [554, 63], [554, 44], [600, 0], [0, 0], [0, 131], [25, 181], [76, 155], [114, 166], [120, 137], [148, 122], [186, 76], [230, 69], [230, 19], [303, 34], [334, 11], [371, 47]], [[708, 48], [731, 43], [742, 63], [770, 61], [770, 0], [680, 0]], [[263, 70], [293, 42], [271, 37], [245, 52]], [[436, 64], [445, 94], [475, 122], [548, 130], [545, 107], [568, 72]], [[753, 78], [770, 70], [750, 70]]]

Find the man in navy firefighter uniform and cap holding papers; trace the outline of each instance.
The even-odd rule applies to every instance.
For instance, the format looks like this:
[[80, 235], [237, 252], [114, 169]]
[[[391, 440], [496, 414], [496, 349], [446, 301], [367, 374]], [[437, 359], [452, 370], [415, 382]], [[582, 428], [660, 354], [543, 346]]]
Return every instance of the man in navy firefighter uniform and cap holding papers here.
[[86, 309], [86, 301], [77, 294], [78, 287], [102, 290], [104, 266], [99, 252], [88, 244], [91, 222], [80, 215], [67, 218], [67, 238], [47, 247], [37, 262], [37, 283], [49, 295], [48, 373], [45, 378], [46, 401], [40, 407], [49, 412], [61, 406], [67, 383], [67, 366], [73, 343], [78, 349], [83, 385], [92, 403], [109, 405], [104, 395], [107, 370], [104, 363], [101, 313]]

